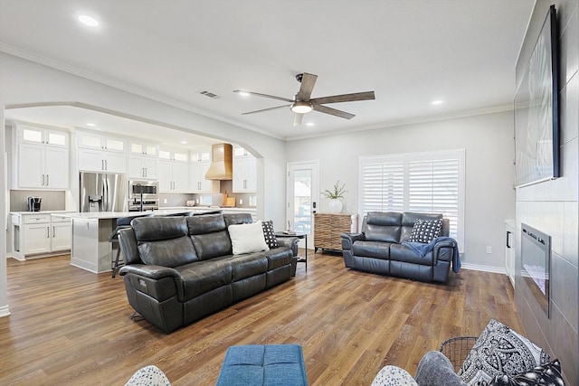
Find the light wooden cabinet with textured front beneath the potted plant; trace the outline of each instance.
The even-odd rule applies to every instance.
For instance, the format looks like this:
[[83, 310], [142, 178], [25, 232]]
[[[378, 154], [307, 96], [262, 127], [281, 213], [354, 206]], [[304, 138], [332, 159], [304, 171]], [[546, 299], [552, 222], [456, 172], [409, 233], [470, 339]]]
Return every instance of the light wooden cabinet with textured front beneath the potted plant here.
[[358, 215], [352, 213], [314, 214], [314, 253], [318, 249], [341, 251], [341, 233], [356, 232]]

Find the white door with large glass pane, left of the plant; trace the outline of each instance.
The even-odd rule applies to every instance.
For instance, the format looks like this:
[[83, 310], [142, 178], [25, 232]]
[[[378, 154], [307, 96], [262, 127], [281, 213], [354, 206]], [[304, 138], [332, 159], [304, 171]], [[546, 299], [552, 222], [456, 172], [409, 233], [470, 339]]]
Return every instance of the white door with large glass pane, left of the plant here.
[[[313, 245], [314, 213], [318, 208], [318, 161], [288, 164], [288, 212], [286, 224], [292, 231], [308, 233]], [[300, 240], [300, 243], [303, 240]], [[300, 244], [300, 248], [304, 248]]]

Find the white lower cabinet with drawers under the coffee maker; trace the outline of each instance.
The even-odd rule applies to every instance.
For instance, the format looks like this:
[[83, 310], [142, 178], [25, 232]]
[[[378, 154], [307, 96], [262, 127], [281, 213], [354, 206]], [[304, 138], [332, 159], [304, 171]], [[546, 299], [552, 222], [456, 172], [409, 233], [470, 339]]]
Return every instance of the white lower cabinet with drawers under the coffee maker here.
[[71, 249], [71, 219], [49, 212], [12, 213], [13, 257], [32, 259]]

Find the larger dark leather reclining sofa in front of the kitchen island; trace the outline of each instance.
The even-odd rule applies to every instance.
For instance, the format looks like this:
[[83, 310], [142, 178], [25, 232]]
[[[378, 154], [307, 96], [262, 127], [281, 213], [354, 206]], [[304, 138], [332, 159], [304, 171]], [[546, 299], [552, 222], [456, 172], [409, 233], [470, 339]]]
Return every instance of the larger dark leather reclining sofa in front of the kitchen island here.
[[249, 213], [143, 217], [119, 231], [128, 303], [165, 333], [295, 276], [298, 239], [233, 255], [228, 226]]

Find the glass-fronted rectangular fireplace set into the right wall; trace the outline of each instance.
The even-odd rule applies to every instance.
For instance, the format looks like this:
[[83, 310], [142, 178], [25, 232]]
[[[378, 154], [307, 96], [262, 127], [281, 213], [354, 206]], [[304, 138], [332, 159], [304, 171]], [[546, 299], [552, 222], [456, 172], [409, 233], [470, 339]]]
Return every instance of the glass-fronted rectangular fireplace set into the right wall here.
[[551, 236], [521, 223], [521, 277], [550, 317]]

